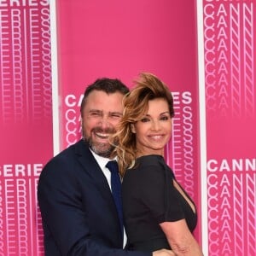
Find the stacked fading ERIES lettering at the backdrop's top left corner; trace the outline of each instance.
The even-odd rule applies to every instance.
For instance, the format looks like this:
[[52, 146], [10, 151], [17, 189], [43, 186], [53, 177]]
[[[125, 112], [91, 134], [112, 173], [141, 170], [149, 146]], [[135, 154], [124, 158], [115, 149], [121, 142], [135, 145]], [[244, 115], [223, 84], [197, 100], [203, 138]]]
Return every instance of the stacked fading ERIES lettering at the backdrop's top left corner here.
[[0, 22], [3, 121], [51, 117], [49, 1], [0, 1]]

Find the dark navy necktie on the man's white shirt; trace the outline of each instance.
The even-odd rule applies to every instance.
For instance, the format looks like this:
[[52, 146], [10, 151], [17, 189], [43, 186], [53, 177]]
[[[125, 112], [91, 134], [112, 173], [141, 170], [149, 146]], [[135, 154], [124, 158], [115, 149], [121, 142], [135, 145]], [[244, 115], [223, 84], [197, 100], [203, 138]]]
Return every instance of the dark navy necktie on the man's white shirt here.
[[122, 199], [121, 199], [121, 181], [119, 177], [119, 166], [115, 160], [109, 161], [106, 165], [111, 172], [111, 189], [113, 200], [117, 208], [119, 215], [119, 223], [122, 237], [124, 236], [124, 226], [123, 226], [123, 209], [122, 209]]

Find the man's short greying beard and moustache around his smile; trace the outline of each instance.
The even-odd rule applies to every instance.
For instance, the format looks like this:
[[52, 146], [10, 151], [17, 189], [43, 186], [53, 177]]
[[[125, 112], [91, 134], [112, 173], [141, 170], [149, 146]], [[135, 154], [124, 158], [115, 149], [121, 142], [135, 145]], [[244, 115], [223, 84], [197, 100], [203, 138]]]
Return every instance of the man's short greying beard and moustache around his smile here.
[[[96, 132], [102, 132], [102, 133], [108, 133], [108, 134], [113, 134], [115, 132], [114, 129], [108, 128], [103, 130], [100, 127], [96, 127], [94, 129], [92, 129], [90, 131], [91, 133], [96, 133]], [[87, 142], [89, 144], [89, 147], [91, 148], [91, 150], [102, 156], [102, 157], [106, 157], [109, 158], [110, 155], [113, 152], [114, 146], [111, 145], [110, 143], [97, 143], [94, 142], [91, 136], [88, 136], [85, 134], [85, 132], [83, 131], [83, 136], [84, 136], [84, 141]]]

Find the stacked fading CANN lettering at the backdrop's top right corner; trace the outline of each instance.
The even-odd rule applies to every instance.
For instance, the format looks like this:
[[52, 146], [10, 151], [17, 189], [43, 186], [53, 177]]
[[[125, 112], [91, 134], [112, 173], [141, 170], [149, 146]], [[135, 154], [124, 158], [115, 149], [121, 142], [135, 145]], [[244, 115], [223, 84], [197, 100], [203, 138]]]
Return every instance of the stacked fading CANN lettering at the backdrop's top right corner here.
[[[206, 2], [207, 111], [212, 115], [228, 116], [231, 113], [233, 116], [253, 117], [253, 1]], [[243, 83], [246, 86], [241, 85]]]

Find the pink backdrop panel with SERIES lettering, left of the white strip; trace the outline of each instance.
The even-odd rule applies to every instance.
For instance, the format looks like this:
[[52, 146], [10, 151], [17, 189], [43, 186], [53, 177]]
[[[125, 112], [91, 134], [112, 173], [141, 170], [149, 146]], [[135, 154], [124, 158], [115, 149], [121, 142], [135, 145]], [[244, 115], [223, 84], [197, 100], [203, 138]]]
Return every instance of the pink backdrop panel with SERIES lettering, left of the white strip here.
[[48, 1], [0, 1], [0, 255], [43, 255], [38, 176], [53, 154]]

